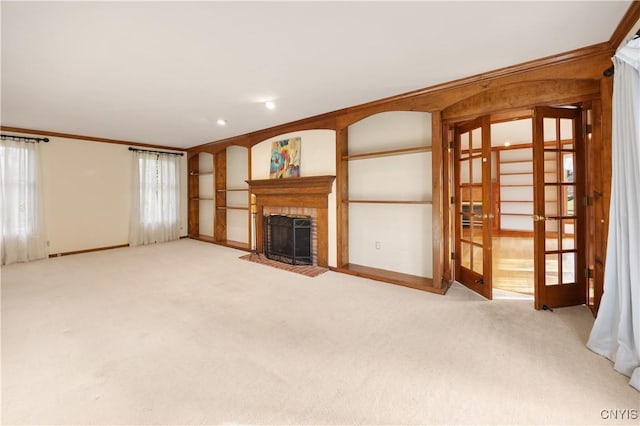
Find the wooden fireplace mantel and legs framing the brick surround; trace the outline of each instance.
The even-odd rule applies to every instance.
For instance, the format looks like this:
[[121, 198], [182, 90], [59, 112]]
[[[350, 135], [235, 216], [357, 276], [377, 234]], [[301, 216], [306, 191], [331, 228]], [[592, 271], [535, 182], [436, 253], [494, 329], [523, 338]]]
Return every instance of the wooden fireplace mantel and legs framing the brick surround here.
[[329, 266], [329, 220], [328, 197], [335, 176], [309, 176], [288, 179], [248, 180], [249, 193], [256, 197], [256, 250], [263, 248], [264, 207], [315, 208], [317, 212], [317, 264]]

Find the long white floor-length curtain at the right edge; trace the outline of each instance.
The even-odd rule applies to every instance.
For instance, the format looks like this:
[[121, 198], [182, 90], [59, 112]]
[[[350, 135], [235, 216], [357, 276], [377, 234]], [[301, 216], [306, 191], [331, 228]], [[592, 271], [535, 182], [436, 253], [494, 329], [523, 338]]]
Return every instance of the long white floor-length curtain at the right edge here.
[[640, 390], [640, 38], [613, 58], [613, 139], [604, 295], [587, 346]]

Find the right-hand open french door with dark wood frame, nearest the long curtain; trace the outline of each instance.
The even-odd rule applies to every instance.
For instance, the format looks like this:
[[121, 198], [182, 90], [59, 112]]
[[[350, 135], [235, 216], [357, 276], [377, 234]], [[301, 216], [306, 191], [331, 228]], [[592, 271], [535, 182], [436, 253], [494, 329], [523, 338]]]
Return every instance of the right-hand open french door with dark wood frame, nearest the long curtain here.
[[578, 108], [534, 110], [535, 307], [586, 302], [584, 139]]

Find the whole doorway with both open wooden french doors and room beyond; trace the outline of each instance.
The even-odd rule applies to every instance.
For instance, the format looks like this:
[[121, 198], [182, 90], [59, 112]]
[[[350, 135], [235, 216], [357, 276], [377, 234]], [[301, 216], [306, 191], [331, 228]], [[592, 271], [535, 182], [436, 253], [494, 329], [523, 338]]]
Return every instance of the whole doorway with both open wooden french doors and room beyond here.
[[585, 303], [585, 138], [577, 107], [485, 116], [454, 128], [455, 277], [536, 309]]

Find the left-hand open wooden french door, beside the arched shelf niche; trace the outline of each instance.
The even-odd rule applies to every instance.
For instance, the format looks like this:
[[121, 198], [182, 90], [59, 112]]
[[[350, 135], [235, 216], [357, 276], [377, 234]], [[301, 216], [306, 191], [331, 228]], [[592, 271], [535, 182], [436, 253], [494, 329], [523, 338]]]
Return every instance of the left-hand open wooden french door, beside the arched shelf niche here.
[[454, 131], [456, 280], [487, 299], [491, 284], [491, 135], [489, 117]]

